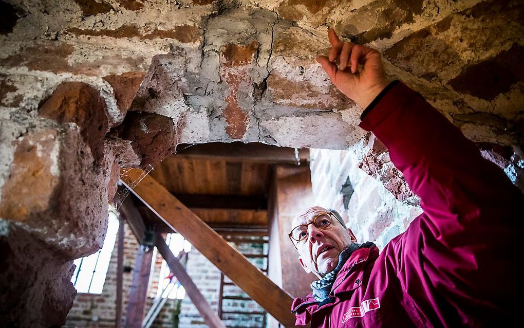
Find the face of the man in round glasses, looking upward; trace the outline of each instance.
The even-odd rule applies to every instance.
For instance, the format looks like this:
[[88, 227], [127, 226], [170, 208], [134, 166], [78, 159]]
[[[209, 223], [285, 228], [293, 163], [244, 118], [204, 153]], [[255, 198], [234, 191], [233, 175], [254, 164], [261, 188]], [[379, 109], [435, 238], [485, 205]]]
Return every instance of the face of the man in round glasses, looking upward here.
[[[329, 212], [325, 208], [315, 206], [293, 219], [292, 228], [310, 223], [316, 216]], [[305, 240], [297, 242], [299, 261], [305, 272], [313, 272], [322, 278], [332, 271], [339, 263], [340, 253], [355, 242], [351, 229], [346, 229], [332, 216], [331, 225], [326, 229], [308, 225], [308, 235]]]

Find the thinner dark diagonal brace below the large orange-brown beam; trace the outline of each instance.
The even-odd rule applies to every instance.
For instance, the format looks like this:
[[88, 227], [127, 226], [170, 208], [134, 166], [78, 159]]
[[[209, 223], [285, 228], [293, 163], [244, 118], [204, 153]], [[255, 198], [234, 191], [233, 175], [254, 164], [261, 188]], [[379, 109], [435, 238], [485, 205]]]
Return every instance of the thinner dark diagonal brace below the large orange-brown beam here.
[[173, 255], [166, 241], [163, 240], [162, 236], [157, 235], [156, 246], [160, 255], [166, 260], [167, 265], [174, 276], [177, 277], [180, 284], [184, 287], [185, 292], [193, 302], [196, 310], [200, 312], [206, 325], [212, 328], [225, 328], [226, 326], [220, 319], [219, 315], [211, 308], [208, 301], [205, 300], [204, 296], [196, 287], [195, 283], [189, 277], [189, 274], [185, 272], [184, 267], [180, 264], [180, 261]]

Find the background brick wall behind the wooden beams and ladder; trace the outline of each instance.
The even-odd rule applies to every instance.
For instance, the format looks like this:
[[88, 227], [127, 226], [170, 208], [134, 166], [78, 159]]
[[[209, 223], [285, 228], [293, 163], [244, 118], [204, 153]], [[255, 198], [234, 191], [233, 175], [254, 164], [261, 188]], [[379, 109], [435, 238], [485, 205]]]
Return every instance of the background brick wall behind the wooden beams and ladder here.
[[[124, 226], [124, 266], [133, 268], [138, 249], [138, 243], [129, 229]], [[253, 237], [259, 239], [259, 237]], [[242, 253], [246, 254], [266, 254], [267, 244], [258, 242], [231, 242], [231, 244]], [[104, 289], [101, 294], [79, 293], [74, 300], [73, 308], [67, 316], [65, 327], [114, 327], [115, 326], [115, 299], [116, 299], [116, 257], [117, 245], [113, 249]], [[250, 261], [261, 269], [267, 269], [267, 259], [253, 258]], [[149, 289], [144, 315], [150, 309], [159, 288], [160, 271], [162, 257], [155, 250], [154, 262], [151, 264], [151, 274], [149, 279]], [[209, 302], [215, 311], [219, 311], [219, 294], [221, 272], [198, 250], [192, 248], [188, 253], [187, 272], [194, 283], [200, 289], [204, 298]], [[133, 273], [124, 272], [123, 277], [123, 318], [125, 321], [126, 306]], [[231, 282], [227, 277], [225, 283]], [[224, 295], [233, 297], [247, 297], [247, 295], [236, 285], [224, 285]], [[162, 307], [152, 327], [173, 327], [174, 316], [176, 313], [177, 300], [169, 299]], [[264, 314], [234, 314], [224, 313], [223, 321], [227, 327], [263, 327], [265, 312], [260, 306], [249, 300], [227, 300], [224, 299], [222, 310], [224, 312], [260, 312]], [[189, 297], [181, 301], [178, 326], [180, 328], [205, 327], [198, 310], [191, 303]]]

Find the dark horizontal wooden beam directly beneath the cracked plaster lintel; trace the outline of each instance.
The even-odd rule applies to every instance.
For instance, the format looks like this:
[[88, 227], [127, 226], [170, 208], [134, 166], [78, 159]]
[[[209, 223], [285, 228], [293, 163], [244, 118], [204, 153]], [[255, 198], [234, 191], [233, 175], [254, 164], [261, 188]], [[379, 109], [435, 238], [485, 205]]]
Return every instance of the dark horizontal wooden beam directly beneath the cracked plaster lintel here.
[[[202, 144], [178, 144], [176, 157], [221, 157], [230, 162], [264, 162], [267, 164], [297, 165], [294, 148], [252, 142], [210, 142]], [[309, 162], [309, 149], [298, 149], [300, 163]]]

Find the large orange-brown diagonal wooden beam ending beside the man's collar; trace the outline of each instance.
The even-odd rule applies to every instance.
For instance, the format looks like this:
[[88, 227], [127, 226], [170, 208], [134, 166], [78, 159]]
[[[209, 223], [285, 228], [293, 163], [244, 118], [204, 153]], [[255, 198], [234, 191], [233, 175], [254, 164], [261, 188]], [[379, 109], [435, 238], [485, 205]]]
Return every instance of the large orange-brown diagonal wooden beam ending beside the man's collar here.
[[[129, 185], [133, 185], [142, 176], [141, 170], [126, 169], [121, 181], [129, 188]], [[290, 312], [291, 296], [227, 244], [224, 238], [154, 178], [146, 176], [134, 189], [129, 189], [275, 319], [287, 327], [294, 326], [294, 315]]]

